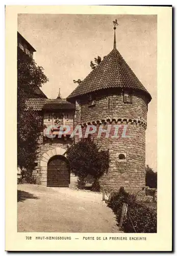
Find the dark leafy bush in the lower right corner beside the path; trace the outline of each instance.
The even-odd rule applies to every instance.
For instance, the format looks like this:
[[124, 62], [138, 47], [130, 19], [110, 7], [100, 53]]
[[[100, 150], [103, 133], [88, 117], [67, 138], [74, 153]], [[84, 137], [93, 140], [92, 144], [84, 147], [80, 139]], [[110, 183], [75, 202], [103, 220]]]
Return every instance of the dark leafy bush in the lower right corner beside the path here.
[[126, 233], [156, 233], [157, 211], [136, 200], [135, 195], [126, 193], [120, 189], [111, 198], [108, 206], [113, 209], [118, 223], [120, 222], [123, 203], [128, 204], [127, 217], [123, 221], [123, 230]]

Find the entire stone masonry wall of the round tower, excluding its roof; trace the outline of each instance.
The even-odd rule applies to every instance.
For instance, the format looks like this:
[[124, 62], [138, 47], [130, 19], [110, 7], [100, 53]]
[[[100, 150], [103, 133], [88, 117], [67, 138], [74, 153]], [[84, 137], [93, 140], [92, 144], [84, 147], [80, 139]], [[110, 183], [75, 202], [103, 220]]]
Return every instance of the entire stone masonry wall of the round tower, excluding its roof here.
[[[147, 120], [147, 101], [144, 95], [134, 92], [132, 103], [123, 102], [123, 92], [113, 95], [97, 94], [96, 104], [89, 106], [81, 100], [80, 123], [102, 122], [115, 119], [115, 124], [127, 124], [130, 138], [94, 138], [100, 150], [109, 150], [110, 167], [108, 173], [100, 178], [100, 186], [118, 190], [123, 186], [127, 191], [136, 193], [145, 187], [145, 129]], [[126, 120], [125, 120], [126, 119]], [[78, 122], [79, 123], [79, 122]], [[104, 129], [106, 129], [106, 126]], [[92, 136], [93, 137], [93, 136]], [[119, 153], [125, 159], [118, 158]]]

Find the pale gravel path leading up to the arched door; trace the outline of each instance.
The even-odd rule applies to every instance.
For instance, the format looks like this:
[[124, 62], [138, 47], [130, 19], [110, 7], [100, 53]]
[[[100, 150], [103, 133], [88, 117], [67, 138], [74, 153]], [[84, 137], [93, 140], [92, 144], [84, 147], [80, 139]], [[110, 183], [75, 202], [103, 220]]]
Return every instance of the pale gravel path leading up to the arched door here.
[[121, 232], [101, 193], [18, 185], [18, 232]]

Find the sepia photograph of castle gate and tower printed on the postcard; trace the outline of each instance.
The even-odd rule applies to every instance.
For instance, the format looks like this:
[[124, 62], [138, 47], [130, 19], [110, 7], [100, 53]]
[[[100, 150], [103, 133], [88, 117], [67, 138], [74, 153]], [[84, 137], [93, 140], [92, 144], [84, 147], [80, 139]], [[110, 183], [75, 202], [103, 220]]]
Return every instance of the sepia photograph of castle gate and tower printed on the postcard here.
[[18, 232], [157, 232], [157, 15], [18, 14], [17, 183]]

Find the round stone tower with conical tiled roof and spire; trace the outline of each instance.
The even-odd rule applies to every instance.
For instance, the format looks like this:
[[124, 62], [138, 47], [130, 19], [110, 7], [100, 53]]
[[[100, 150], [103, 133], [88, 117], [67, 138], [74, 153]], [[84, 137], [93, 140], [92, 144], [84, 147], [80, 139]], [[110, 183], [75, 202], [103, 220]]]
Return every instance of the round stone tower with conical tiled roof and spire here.
[[113, 50], [67, 100], [76, 104], [74, 125], [94, 124], [102, 129], [102, 136], [92, 135], [100, 150], [110, 154], [109, 170], [100, 178], [100, 186], [116, 190], [123, 186], [135, 193], [145, 187], [145, 130], [151, 96], [116, 49], [115, 29]]

